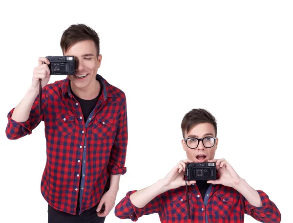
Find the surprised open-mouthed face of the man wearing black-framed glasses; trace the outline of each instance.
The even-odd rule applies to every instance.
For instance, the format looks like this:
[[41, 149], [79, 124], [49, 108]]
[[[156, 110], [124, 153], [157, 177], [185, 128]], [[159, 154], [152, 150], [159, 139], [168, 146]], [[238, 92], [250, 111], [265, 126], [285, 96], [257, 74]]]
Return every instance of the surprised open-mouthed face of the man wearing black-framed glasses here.
[[[215, 130], [210, 123], [200, 123], [195, 125], [189, 133], [185, 132], [185, 138], [195, 137], [195, 138], [205, 138], [208, 136], [215, 137]], [[215, 156], [215, 152], [218, 146], [218, 139], [215, 140], [215, 144], [211, 148], [206, 148], [202, 141], [199, 141], [197, 148], [190, 149], [186, 145], [186, 142], [182, 139], [182, 146], [186, 152], [188, 159], [193, 162], [208, 162]]]

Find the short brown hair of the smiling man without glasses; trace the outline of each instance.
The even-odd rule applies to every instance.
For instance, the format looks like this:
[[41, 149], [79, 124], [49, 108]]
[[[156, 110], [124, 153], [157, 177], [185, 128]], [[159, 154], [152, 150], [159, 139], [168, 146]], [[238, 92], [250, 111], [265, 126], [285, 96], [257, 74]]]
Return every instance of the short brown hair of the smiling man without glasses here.
[[95, 30], [85, 24], [70, 25], [61, 37], [60, 46], [63, 54], [74, 44], [84, 40], [92, 40], [97, 48], [97, 57], [100, 54], [100, 39]]

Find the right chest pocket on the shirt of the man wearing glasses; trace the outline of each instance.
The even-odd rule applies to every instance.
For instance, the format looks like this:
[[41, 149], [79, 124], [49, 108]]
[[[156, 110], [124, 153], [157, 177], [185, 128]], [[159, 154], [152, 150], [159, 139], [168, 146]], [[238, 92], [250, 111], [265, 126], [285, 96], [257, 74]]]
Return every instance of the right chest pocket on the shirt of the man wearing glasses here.
[[213, 197], [213, 212], [216, 216], [228, 217], [233, 207], [234, 198], [225, 194], [215, 194]]

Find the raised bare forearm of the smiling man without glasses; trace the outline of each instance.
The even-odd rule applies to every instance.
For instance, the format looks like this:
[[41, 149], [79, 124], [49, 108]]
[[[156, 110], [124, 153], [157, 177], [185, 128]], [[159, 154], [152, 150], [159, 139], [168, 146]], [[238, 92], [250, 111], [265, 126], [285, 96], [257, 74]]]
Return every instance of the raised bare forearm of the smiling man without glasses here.
[[38, 92], [28, 89], [21, 102], [15, 107], [11, 118], [17, 122], [27, 121], [37, 95]]

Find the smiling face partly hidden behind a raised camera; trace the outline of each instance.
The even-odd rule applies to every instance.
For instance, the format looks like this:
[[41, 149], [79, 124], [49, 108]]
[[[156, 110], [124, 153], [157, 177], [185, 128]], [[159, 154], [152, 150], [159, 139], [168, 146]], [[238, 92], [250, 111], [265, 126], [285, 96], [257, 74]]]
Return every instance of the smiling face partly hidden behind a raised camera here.
[[75, 57], [75, 75], [68, 75], [71, 85], [78, 89], [94, 86], [102, 56], [97, 57], [96, 46], [91, 40], [80, 41], [72, 45], [65, 55]]

